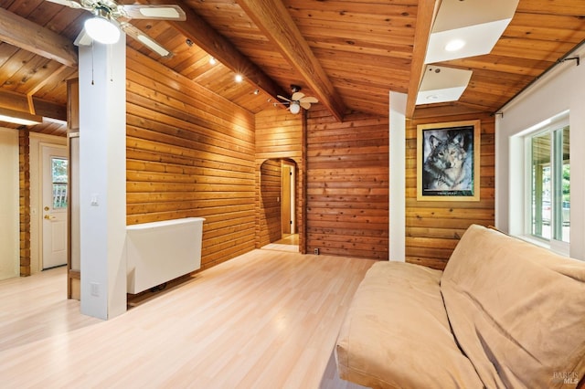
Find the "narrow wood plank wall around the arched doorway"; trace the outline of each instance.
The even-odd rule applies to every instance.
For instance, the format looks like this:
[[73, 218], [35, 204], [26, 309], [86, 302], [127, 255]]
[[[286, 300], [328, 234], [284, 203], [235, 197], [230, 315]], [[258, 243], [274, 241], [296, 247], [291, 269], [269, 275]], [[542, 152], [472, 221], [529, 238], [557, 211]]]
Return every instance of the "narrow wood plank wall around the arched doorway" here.
[[[304, 132], [303, 114], [293, 115], [282, 108], [268, 108], [256, 114], [256, 184], [257, 184], [257, 205], [256, 205], [256, 247], [268, 245], [278, 240], [282, 235], [281, 225], [281, 203], [276, 204], [274, 197], [281, 195], [281, 182], [278, 188], [271, 185], [265, 187], [261, 174], [261, 166], [270, 162], [264, 169], [276, 169], [272, 166], [278, 163], [278, 177], [281, 177], [281, 161], [290, 160], [296, 163], [296, 222], [299, 231], [299, 249], [304, 252], [303, 234], [303, 197], [304, 197]], [[268, 173], [268, 172], [267, 172]], [[272, 175], [274, 175], [273, 173]], [[272, 177], [274, 180], [275, 177]], [[277, 184], [277, 183], [273, 183]], [[276, 211], [278, 209], [278, 214]], [[276, 238], [276, 239], [275, 239]]]

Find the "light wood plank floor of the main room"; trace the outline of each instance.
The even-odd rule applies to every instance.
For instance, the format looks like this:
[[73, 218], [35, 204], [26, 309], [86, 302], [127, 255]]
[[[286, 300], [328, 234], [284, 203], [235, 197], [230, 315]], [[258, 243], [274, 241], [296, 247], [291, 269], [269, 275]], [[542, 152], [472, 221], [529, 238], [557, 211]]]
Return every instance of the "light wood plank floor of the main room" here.
[[2, 388], [356, 388], [333, 348], [373, 260], [255, 250], [110, 321], [65, 269], [0, 282]]

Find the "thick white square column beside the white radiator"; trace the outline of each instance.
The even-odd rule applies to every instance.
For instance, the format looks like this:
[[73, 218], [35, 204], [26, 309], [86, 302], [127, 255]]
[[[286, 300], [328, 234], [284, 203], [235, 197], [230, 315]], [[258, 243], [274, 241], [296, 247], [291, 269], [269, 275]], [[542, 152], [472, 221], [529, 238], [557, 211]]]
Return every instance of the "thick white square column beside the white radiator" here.
[[80, 46], [81, 313], [126, 311], [126, 42]]

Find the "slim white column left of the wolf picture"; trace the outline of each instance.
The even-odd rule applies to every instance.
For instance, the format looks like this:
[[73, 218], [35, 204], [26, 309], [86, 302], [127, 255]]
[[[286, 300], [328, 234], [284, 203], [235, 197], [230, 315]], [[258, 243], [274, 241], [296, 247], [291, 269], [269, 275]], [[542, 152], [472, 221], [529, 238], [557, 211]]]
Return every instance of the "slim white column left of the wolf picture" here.
[[404, 93], [390, 92], [389, 111], [389, 260], [406, 260], [406, 100]]

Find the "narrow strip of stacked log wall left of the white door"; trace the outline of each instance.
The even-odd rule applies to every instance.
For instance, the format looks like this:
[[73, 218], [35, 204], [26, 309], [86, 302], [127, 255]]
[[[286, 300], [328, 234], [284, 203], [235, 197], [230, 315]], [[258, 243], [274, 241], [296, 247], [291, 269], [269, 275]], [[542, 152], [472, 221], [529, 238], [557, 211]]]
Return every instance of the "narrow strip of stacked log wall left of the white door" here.
[[18, 131], [18, 186], [20, 217], [20, 276], [30, 276], [30, 132]]

